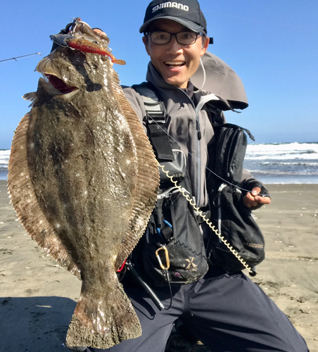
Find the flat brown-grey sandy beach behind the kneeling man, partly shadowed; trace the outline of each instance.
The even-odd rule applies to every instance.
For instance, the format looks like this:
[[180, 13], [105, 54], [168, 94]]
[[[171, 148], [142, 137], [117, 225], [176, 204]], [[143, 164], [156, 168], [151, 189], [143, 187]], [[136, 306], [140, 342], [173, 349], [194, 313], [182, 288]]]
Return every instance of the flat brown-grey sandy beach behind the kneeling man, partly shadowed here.
[[[318, 352], [318, 184], [271, 184], [272, 204], [254, 212], [266, 239], [256, 284]], [[80, 282], [26, 234], [0, 181], [0, 312], [4, 352], [65, 352]], [[200, 345], [172, 351], [207, 351]], [[180, 347], [181, 348], [181, 347]]]

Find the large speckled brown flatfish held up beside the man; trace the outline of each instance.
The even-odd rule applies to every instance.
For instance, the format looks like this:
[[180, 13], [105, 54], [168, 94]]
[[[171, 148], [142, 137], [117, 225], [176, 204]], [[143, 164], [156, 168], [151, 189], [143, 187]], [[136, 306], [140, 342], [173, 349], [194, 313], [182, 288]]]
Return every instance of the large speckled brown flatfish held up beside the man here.
[[[77, 23], [77, 37], [108, 37]], [[67, 343], [109, 348], [140, 336], [116, 270], [146, 229], [158, 164], [108, 57], [59, 46], [37, 65], [42, 78], [11, 146], [8, 189], [20, 222], [58, 263], [82, 279]]]

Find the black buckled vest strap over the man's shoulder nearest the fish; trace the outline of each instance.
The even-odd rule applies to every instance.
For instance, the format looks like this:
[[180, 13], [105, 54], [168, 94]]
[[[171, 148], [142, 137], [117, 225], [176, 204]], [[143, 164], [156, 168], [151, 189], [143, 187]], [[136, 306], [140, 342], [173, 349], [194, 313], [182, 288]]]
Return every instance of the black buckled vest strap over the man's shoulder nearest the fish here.
[[165, 104], [160, 99], [157, 89], [149, 82], [134, 84], [132, 89], [139, 93], [144, 100], [147, 113], [146, 125], [155, 155], [160, 161], [174, 160], [172, 147], [167, 134], [167, 127], [165, 125], [167, 111]]

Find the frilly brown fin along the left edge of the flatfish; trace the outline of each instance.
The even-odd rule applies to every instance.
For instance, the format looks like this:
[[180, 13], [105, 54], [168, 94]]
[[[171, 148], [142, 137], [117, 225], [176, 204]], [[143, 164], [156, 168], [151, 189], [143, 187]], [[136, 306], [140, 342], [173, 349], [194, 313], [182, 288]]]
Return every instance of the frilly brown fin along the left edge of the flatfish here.
[[27, 165], [27, 128], [30, 114], [27, 113], [20, 121], [11, 146], [8, 164], [8, 192], [11, 196], [11, 203], [30, 237], [50, 256], [53, 256], [61, 266], [80, 278], [77, 265], [39, 206], [30, 180]]

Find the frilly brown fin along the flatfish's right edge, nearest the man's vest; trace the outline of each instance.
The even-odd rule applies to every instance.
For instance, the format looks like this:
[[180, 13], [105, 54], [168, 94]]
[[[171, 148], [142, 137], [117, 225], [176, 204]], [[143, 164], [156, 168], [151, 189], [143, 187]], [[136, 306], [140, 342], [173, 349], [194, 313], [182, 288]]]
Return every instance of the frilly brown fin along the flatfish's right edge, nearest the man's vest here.
[[144, 128], [136, 112], [129, 101], [127, 101], [124, 92], [122, 92], [115, 71], [113, 71], [112, 76], [113, 90], [132, 132], [138, 160], [138, 175], [136, 177], [138, 182], [130, 218], [131, 227], [126, 232], [125, 238], [122, 240], [121, 249], [117, 254], [116, 266], [119, 268], [146, 230], [148, 220], [157, 200], [160, 177], [158, 163]]

